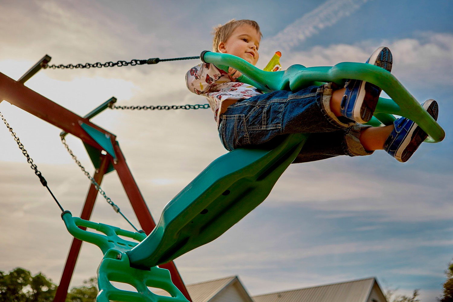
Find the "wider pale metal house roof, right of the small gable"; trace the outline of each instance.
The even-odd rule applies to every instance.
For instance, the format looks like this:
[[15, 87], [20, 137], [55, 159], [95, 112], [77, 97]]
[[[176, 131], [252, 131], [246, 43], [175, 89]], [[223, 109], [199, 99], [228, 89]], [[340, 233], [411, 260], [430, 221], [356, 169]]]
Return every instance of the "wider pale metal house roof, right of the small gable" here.
[[253, 296], [255, 302], [366, 302], [375, 278], [365, 278], [341, 283], [299, 288]]

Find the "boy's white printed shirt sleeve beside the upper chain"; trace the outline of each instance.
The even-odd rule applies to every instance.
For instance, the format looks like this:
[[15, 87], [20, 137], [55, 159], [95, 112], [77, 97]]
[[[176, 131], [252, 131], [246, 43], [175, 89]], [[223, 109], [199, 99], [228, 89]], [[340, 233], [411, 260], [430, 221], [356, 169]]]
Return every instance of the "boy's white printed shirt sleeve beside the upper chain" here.
[[205, 95], [216, 90], [216, 80], [219, 77], [220, 72], [213, 64], [201, 63], [186, 73], [186, 85], [191, 92]]

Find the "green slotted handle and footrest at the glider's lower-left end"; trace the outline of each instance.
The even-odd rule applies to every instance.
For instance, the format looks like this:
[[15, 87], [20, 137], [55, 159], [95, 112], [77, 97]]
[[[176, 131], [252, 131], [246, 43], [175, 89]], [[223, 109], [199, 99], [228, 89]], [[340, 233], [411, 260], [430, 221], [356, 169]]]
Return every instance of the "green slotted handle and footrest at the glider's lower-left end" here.
[[[97, 269], [99, 288], [97, 302], [188, 302], [172, 283], [168, 269], [151, 267], [143, 270], [130, 267], [125, 252], [144, 240], [146, 238], [144, 233], [134, 233], [115, 226], [72, 217], [69, 211], [63, 212], [62, 218], [69, 233], [79, 240], [96, 244], [104, 254]], [[85, 228], [88, 230], [84, 230]], [[116, 285], [128, 284], [136, 291], [117, 288], [112, 282]], [[157, 295], [148, 287], [163, 289], [171, 297]]]

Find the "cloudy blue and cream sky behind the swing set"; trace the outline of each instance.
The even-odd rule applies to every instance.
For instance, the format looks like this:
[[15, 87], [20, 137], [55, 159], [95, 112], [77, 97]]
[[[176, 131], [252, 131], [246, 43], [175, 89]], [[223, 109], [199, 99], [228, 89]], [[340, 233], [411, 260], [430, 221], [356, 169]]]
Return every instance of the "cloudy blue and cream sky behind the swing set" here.
[[[185, 283], [238, 275], [251, 295], [367, 277], [399, 294], [419, 288], [423, 302], [441, 294], [453, 258], [451, 1], [3, 0], [0, 10], [6, 12], [0, 72], [14, 80], [44, 54], [54, 64], [197, 56], [211, 50], [212, 28], [232, 18], [260, 24], [260, 68], [275, 51], [286, 69], [365, 62], [377, 47], [389, 47], [395, 77], [420, 103], [438, 101], [445, 139], [422, 144], [407, 163], [376, 151], [290, 165], [260, 206], [175, 264]], [[184, 81], [198, 63], [41, 70], [26, 86], [78, 115], [111, 96], [117, 105], [204, 104]], [[7, 100], [0, 112], [62, 206], [79, 215], [89, 181], [61, 144], [61, 130]], [[210, 110], [106, 110], [92, 122], [117, 135], [156, 221], [169, 200], [227, 152]], [[0, 270], [19, 266], [58, 283], [72, 237], [1, 125], [0, 142]], [[92, 173], [80, 141], [68, 135], [67, 143]], [[138, 225], [115, 172], [102, 187]], [[101, 197], [91, 220], [130, 230]], [[96, 246], [83, 244], [70, 286], [95, 276], [101, 258]]]

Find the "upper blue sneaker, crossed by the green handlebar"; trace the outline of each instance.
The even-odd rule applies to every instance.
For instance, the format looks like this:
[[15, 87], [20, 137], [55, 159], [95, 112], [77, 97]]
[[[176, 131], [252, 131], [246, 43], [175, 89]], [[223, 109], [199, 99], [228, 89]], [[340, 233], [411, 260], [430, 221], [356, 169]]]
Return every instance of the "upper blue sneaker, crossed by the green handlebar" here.
[[[384, 68], [388, 72], [392, 70], [392, 62], [392, 53], [386, 47], [376, 49], [366, 61], [366, 63]], [[344, 87], [346, 91], [341, 102], [341, 114], [360, 124], [371, 120], [381, 94], [381, 88], [366, 81], [353, 79], [347, 80]]]

